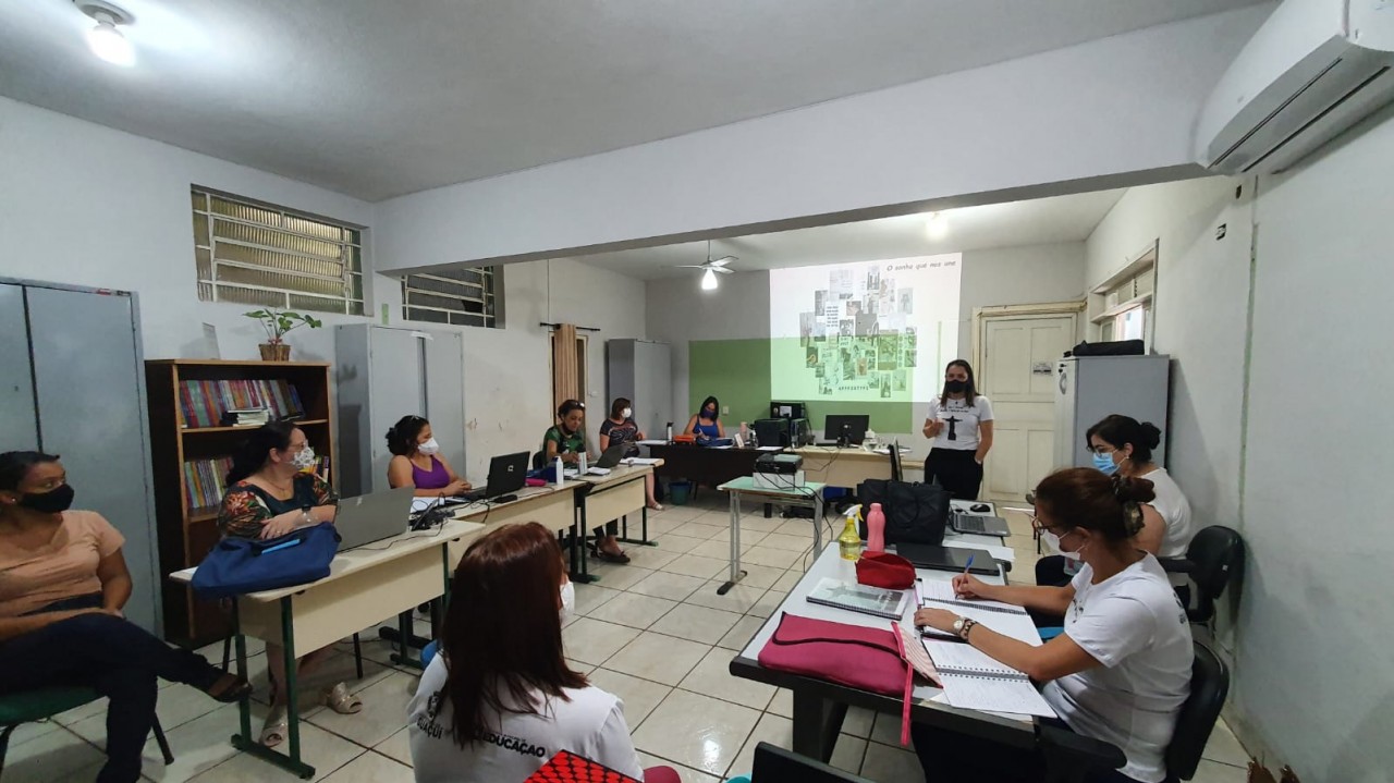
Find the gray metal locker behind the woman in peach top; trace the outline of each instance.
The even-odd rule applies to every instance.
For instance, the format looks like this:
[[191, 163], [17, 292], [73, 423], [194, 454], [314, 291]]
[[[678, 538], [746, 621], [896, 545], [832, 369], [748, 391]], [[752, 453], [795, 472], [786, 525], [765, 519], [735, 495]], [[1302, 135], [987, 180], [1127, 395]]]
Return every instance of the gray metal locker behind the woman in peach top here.
[[74, 507], [125, 536], [127, 619], [162, 635], [135, 294], [0, 279], [0, 450], [63, 457]]

